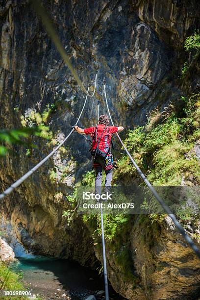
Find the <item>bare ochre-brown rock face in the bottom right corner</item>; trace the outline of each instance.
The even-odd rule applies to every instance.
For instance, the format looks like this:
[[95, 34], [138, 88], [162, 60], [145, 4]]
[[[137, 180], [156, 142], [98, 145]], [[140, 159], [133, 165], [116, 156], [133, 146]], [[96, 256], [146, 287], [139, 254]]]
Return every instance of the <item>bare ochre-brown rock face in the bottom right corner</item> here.
[[[113, 264], [114, 285], [121, 283], [119, 290], [127, 299], [182, 299], [183, 295], [185, 299], [198, 299], [200, 261], [175, 230], [170, 217], [162, 226], [148, 227], [137, 220], [129, 236], [135, 275], [140, 281], [135, 287], [128, 280], [123, 282]], [[108, 251], [110, 261], [113, 255]]]

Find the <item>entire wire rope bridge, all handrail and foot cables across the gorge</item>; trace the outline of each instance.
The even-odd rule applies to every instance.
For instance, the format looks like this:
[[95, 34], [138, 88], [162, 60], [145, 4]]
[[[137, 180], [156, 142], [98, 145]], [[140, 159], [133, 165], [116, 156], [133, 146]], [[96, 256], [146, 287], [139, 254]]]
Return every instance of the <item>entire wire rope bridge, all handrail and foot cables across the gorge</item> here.
[[[77, 118], [77, 121], [75, 123], [75, 125], [78, 124], [83, 110], [85, 108], [85, 104], [87, 102], [88, 97], [94, 97], [95, 95], [95, 91], [96, 91], [96, 86], [97, 86], [97, 74], [96, 74], [96, 78], [95, 78], [95, 86], [94, 86], [94, 92], [93, 94], [89, 94], [89, 89], [90, 87], [88, 87], [88, 89], [86, 90], [83, 83], [81, 82], [79, 76], [77, 75], [74, 67], [72, 66], [70, 59], [64, 49], [64, 47], [62, 46], [62, 43], [55, 31], [55, 29], [53, 28], [50, 18], [47, 15], [46, 10], [44, 9], [44, 7], [41, 5], [40, 0], [32, 0], [32, 5], [35, 9], [35, 11], [38, 13], [38, 15], [41, 17], [43, 24], [46, 28], [46, 30], [48, 31], [51, 40], [54, 42], [57, 50], [59, 51], [60, 55], [62, 56], [64, 62], [66, 63], [66, 65], [69, 67], [69, 69], [71, 70], [72, 74], [75, 77], [75, 80], [77, 81], [79, 87], [82, 89], [82, 91], [86, 94], [86, 98], [82, 107], [82, 110]], [[114, 126], [111, 114], [110, 114], [110, 110], [109, 110], [109, 106], [108, 106], [108, 101], [107, 101], [107, 95], [106, 95], [106, 84], [105, 84], [105, 80], [103, 80], [103, 91], [104, 91], [104, 98], [105, 98], [105, 102], [106, 102], [106, 107], [107, 107], [107, 111], [111, 120], [112, 125]], [[99, 102], [97, 105], [97, 112], [98, 112], [98, 117], [99, 117]], [[99, 119], [99, 118], [98, 118]], [[57, 151], [59, 150], [59, 148], [69, 139], [69, 137], [71, 136], [71, 134], [73, 133], [74, 128], [69, 132], [69, 134], [65, 137], [65, 139], [54, 149], [52, 150], [45, 158], [43, 158], [37, 165], [35, 165], [31, 170], [29, 170], [25, 175], [23, 175], [21, 178], [19, 178], [16, 182], [14, 182], [10, 187], [8, 187], [5, 191], [3, 191], [0, 194], [0, 199], [3, 199], [5, 196], [9, 195], [14, 189], [16, 189], [19, 185], [21, 185], [30, 175], [32, 175], [36, 170], [38, 170], [45, 162], [47, 162], [47, 160]], [[185, 229], [179, 224], [178, 220], [176, 219], [175, 215], [173, 214], [173, 212], [170, 210], [170, 208], [164, 203], [164, 201], [160, 198], [160, 196], [158, 195], [158, 193], [155, 191], [155, 189], [153, 188], [153, 186], [150, 184], [149, 180], [146, 178], [146, 176], [142, 173], [142, 171], [140, 170], [140, 168], [138, 167], [138, 165], [136, 164], [136, 162], [134, 161], [133, 157], [130, 155], [130, 153], [128, 152], [128, 150], [126, 149], [123, 141], [121, 140], [119, 134], [117, 133], [117, 137], [120, 141], [120, 143], [122, 144], [122, 146], [125, 149], [126, 154], [128, 155], [128, 157], [130, 158], [131, 162], [133, 163], [133, 165], [135, 166], [138, 174], [141, 176], [141, 178], [144, 180], [144, 182], [147, 184], [147, 186], [149, 187], [150, 191], [152, 192], [152, 194], [154, 195], [154, 197], [156, 198], [156, 200], [160, 203], [160, 205], [164, 208], [165, 212], [170, 216], [170, 218], [172, 219], [173, 223], [175, 224], [176, 228], [178, 229], [178, 231], [180, 232], [180, 234], [183, 236], [183, 238], [185, 239], [185, 241], [187, 242], [187, 244], [191, 247], [191, 249], [197, 254], [197, 256], [200, 258], [200, 250], [199, 248], [195, 245], [194, 241], [189, 237], [188, 234], [186, 234]], [[105, 240], [104, 240], [104, 227], [103, 227], [103, 214], [102, 214], [102, 208], [100, 210], [101, 213], [101, 231], [102, 231], [102, 252], [103, 252], [103, 269], [104, 269], [104, 283], [105, 283], [105, 298], [106, 300], [109, 300], [109, 293], [108, 293], [108, 279], [107, 279], [107, 268], [106, 268], [106, 251], [105, 251]]]

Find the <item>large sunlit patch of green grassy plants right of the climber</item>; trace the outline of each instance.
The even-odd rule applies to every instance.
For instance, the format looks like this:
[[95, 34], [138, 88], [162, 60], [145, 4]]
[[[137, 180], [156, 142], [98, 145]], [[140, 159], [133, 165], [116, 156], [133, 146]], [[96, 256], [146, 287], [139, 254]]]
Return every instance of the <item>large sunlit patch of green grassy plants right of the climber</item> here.
[[[200, 183], [198, 158], [192, 153], [195, 142], [200, 139], [200, 94], [189, 99], [181, 97], [176, 106], [170, 105], [164, 112], [156, 110], [146, 126], [129, 130], [125, 146], [137, 164], [154, 185], [179, 185], [184, 176], [192, 185], [191, 175]], [[127, 156], [119, 162], [118, 175], [134, 175], [136, 170]]]

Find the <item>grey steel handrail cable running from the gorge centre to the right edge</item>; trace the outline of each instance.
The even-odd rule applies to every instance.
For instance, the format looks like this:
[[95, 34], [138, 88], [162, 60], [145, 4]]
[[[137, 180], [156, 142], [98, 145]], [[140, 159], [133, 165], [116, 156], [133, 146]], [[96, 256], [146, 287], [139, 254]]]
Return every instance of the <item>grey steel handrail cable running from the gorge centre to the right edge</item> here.
[[[111, 120], [112, 125], [114, 126], [112, 117], [110, 115], [110, 110], [108, 107], [108, 101], [107, 101], [107, 96], [106, 96], [106, 90], [105, 90], [105, 81], [103, 81], [103, 87], [104, 87], [104, 96], [105, 96], [105, 101], [106, 101], [106, 106], [107, 106], [107, 110], [108, 110], [108, 114]], [[145, 183], [147, 184], [147, 186], [150, 188], [151, 192], [153, 193], [153, 195], [155, 196], [155, 198], [158, 200], [158, 202], [160, 203], [160, 205], [162, 205], [162, 207], [164, 208], [164, 210], [166, 211], [166, 213], [170, 216], [170, 218], [172, 219], [172, 221], [174, 222], [176, 228], [179, 230], [179, 232], [182, 234], [183, 238], [185, 239], [185, 241], [187, 242], [187, 244], [191, 247], [191, 249], [197, 254], [197, 256], [200, 258], [200, 250], [199, 248], [195, 245], [194, 241], [189, 237], [189, 235], [185, 232], [185, 229], [179, 224], [178, 220], [176, 219], [175, 215], [173, 214], [173, 212], [171, 211], [171, 209], [164, 203], [164, 201], [160, 198], [160, 196], [158, 195], [158, 193], [155, 191], [155, 189], [152, 187], [152, 185], [150, 184], [149, 180], [145, 177], [145, 175], [142, 173], [142, 171], [140, 170], [140, 168], [138, 167], [138, 165], [136, 164], [136, 162], [134, 161], [134, 159], [132, 158], [132, 156], [130, 155], [130, 153], [128, 152], [128, 150], [126, 149], [123, 141], [121, 140], [119, 134], [117, 133], [117, 137], [120, 141], [120, 143], [122, 144], [122, 146], [124, 147], [126, 154], [128, 155], [128, 157], [130, 158], [131, 162], [133, 163], [133, 165], [135, 166], [138, 174], [142, 177], [142, 179], [145, 181]]]

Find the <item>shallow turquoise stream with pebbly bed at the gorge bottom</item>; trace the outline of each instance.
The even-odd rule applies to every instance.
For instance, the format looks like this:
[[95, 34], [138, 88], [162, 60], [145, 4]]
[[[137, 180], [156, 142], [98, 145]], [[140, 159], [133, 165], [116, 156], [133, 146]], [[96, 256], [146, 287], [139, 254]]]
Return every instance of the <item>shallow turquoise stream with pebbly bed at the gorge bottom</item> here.
[[[53, 257], [18, 257], [11, 268], [23, 273], [25, 286], [44, 299], [83, 300], [95, 291], [104, 290], [103, 276], [97, 271], [82, 267], [76, 262]], [[110, 297], [114, 300], [124, 298], [117, 295], [109, 285]]]

